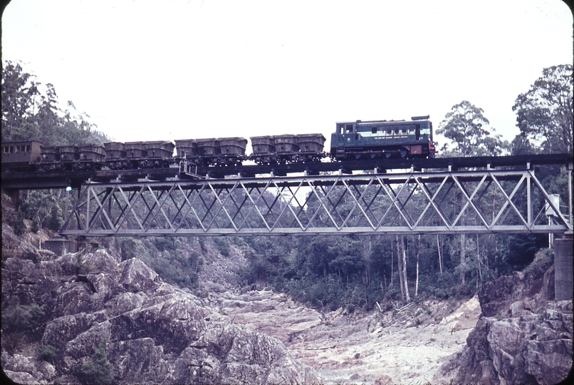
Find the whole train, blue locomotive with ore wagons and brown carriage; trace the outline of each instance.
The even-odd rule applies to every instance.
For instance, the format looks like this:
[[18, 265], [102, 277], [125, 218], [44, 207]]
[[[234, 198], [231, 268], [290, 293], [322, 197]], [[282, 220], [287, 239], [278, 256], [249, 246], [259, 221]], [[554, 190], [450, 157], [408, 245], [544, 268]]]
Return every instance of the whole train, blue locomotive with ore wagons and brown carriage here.
[[[2, 143], [2, 172], [133, 170], [185, 163], [227, 167], [250, 160], [258, 165], [345, 162], [361, 159], [434, 158], [437, 150], [429, 116], [411, 120], [355, 120], [335, 123], [330, 152], [320, 133], [254, 136], [251, 155], [241, 137], [109, 142], [103, 145], [46, 146], [37, 141]], [[175, 150], [175, 153], [174, 153]]]

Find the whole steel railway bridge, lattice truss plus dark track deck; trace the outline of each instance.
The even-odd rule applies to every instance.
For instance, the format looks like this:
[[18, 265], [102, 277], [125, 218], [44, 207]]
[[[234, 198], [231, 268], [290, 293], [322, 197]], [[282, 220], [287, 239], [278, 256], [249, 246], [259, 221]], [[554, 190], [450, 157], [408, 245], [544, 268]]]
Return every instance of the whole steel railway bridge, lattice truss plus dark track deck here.
[[[568, 166], [567, 215], [541, 165]], [[75, 237], [412, 235], [571, 231], [572, 172], [572, 154], [548, 154], [1, 177], [9, 194], [75, 189], [61, 229]]]

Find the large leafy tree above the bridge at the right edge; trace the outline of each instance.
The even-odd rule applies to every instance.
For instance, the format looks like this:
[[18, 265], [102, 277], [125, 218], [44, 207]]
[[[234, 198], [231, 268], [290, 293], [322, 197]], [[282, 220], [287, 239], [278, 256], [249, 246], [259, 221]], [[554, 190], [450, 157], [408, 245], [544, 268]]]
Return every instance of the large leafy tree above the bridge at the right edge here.
[[573, 66], [544, 68], [512, 107], [521, 130], [521, 144], [533, 142], [542, 153], [572, 153]]

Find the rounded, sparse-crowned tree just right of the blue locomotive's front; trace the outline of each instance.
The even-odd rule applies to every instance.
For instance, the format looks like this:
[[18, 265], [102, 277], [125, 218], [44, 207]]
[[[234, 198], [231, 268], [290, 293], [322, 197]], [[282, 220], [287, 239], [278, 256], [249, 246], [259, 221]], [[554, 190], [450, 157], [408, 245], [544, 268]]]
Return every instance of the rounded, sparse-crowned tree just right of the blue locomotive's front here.
[[482, 108], [469, 101], [452, 106], [452, 111], [444, 116], [437, 130], [437, 134], [452, 140], [452, 143], [443, 145], [442, 151], [462, 156], [502, 155], [508, 148], [508, 142], [503, 141], [501, 135], [491, 134], [495, 129], [486, 129], [489, 124]]

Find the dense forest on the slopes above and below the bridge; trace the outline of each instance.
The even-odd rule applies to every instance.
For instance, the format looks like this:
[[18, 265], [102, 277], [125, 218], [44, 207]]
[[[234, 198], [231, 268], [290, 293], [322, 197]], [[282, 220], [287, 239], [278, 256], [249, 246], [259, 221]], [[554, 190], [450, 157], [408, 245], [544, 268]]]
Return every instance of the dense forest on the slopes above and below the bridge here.
[[[452, 107], [439, 123], [441, 156], [520, 155], [572, 152], [573, 66], [545, 68], [530, 89], [516, 98], [518, 135], [508, 143], [491, 128], [484, 111], [469, 101]], [[103, 143], [89, 116], [73, 103], [59, 107], [56, 90], [42, 86], [19, 63], [2, 69], [2, 141], [40, 140], [46, 145]], [[536, 175], [550, 194], [568, 197], [565, 168], [540, 167]], [[66, 193], [21, 193], [18, 210], [5, 205], [3, 220], [15, 232], [41, 227], [58, 230]], [[563, 198], [563, 202], [564, 202]], [[565, 203], [563, 203], [565, 204]], [[464, 218], [463, 218], [464, 220]], [[215, 237], [105, 240], [122, 259], [140, 257], [167, 282], [197, 289], [197, 272], [209, 247], [222, 257], [241, 250], [247, 266], [238, 284], [273, 287], [321, 309], [390, 307], [425, 295], [447, 298], [472, 294], [484, 282], [520, 270], [546, 235], [419, 235], [323, 237]]]

